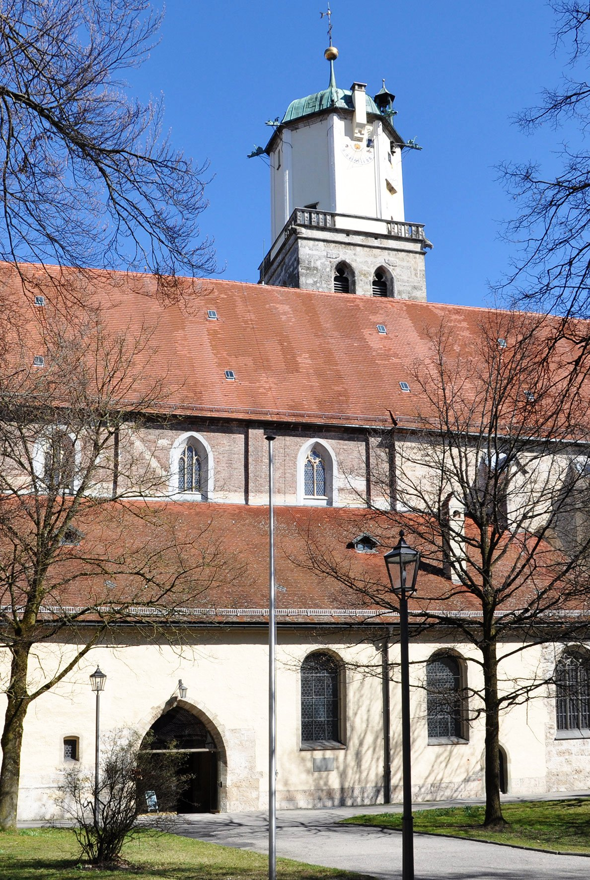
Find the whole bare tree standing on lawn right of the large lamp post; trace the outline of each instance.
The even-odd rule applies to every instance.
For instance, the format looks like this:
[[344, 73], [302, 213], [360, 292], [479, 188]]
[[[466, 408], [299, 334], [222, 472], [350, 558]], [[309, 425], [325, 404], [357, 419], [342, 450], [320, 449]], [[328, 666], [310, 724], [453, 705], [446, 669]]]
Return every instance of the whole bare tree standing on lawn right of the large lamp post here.
[[[469, 714], [484, 718], [485, 825], [498, 826], [500, 715], [552, 677], [526, 664], [515, 676], [515, 658], [586, 632], [588, 361], [575, 345], [556, 346], [553, 321], [539, 316], [491, 312], [467, 350], [457, 335], [431, 334], [410, 382], [415, 414], [380, 436], [363, 528], [385, 547], [403, 528], [422, 550], [424, 578], [434, 577], [410, 604], [416, 632], [475, 649]], [[397, 612], [382, 562], [336, 549], [344, 545], [310, 527], [300, 562]]]

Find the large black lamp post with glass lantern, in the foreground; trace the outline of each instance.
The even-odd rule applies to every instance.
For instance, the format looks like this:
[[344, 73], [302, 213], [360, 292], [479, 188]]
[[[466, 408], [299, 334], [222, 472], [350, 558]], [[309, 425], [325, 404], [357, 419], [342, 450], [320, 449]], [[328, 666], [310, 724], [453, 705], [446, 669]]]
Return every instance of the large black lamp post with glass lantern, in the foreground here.
[[402, 668], [402, 880], [414, 880], [414, 820], [412, 818], [412, 759], [409, 733], [408, 596], [416, 592], [420, 554], [403, 539], [384, 556], [391, 589], [400, 600], [400, 660]]

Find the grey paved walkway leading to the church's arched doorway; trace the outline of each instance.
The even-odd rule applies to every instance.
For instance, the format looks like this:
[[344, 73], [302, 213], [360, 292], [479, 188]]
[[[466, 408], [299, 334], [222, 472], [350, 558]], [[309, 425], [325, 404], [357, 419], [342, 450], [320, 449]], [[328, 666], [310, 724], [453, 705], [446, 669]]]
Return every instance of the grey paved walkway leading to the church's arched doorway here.
[[[567, 797], [588, 795], [569, 793]], [[537, 796], [538, 799], [564, 796]], [[531, 798], [518, 798], [530, 800]], [[516, 800], [516, 798], [511, 798]], [[481, 801], [419, 804], [426, 807], [457, 806]], [[399, 812], [401, 807], [389, 805]], [[402, 876], [402, 835], [355, 825], [337, 825], [360, 812], [383, 812], [374, 807], [337, 807], [323, 810], [279, 810], [277, 854], [299, 862], [325, 865], [368, 874], [379, 880]], [[178, 833], [227, 847], [268, 852], [267, 816], [262, 812], [191, 814], [179, 817]], [[501, 847], [474, 840], [458, 840], [417, 834], [415, 838], [417, 880], [587, 880], [590, 858], [551, 855], [532, 850]]]

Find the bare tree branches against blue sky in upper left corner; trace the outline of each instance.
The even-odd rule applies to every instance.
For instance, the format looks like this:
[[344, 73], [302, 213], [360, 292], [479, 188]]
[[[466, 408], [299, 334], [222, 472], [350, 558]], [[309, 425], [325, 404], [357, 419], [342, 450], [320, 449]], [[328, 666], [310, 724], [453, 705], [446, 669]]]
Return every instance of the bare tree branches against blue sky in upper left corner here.
[[160, 18], [146, 0], [4, 0], [0, 259], [207, 274], [204, 166], [162, 137], [161, 99], [122, 77]]

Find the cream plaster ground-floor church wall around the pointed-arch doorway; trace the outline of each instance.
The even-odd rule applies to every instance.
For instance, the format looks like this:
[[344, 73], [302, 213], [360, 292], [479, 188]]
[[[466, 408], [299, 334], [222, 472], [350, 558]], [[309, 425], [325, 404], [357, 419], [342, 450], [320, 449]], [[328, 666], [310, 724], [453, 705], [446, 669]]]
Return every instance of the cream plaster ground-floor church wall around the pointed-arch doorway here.
[[[262, 809], [267, 803], [267, 631], [225, 627], [189, 634], [192, 647], [148, 644], [138, 634], [124, 633], [129, 643], [93, 649], [67, 681], [35, 700], [26, 715], [22, 753], [21, 820], [49, 818], [52, 794], [63, 772], [63, 737], [80, 739], [80, 758], [92, 771], [95, 698], [88, 676], [100, 664], [107, 673], [101, 696], [101, 729], [133, 727], [142, 733], [165, 710], [178, 679], [188, 687], [182, 705], [209, 719], [224, 745], [221, 778], [223, 810]], [[122, 639], [123, 634], [118, 636]], [[383, 739], [380, 680], [380, 634], [375, 642], [359, 632], [321, 629], [279, 630], [277, 653], [278, 802], [283, 806], [333, 803], [379, 803], [382, 799]], [[509, 646], [513, 647], [513, 646]], [[300, 749], [299, 667], [313, 649], [328, 649], [347, 665], [345, 684], [345, 749]], [[420, 800], [483, 794], [483, 716], [472, 698], [468, 742], [429, 744], [426, 729], [425, 662], [438, 649], [453, 649], [467, 663], [468, 683], [481, 684], [477, 655], [468, 645], [443, 639], [410, 644], [412, 777]], [[71, 646], [44, 646], [40, 666], [55, 667]], [[398, 648], [390, 649], [392, 792], [402, 793], [401, 702]], [[504, 666], [502, 667], [504, 670]], [[542, 670], [541, 649], [514, 655], [500, 676], [500, 686]], [[504, 681], [504, 685], [502, 682]], [[513, 707], [500, 721], [500, 742], [509, 763], [513, 794], [567, 790], [588, 784], [586, 740], [555, 742], [553, 700], [540, 692], [526, 705]], [[553, 724], [553, 737], [551, 737]], [[334, 757], [334, 770], [313, 771], [314, 757]], [[225, 765], [226, 761], [226, 765]], [[549, 763], [549, 777], [548, 777]], [[586, 782], [584, 781], [586, 780]]]

